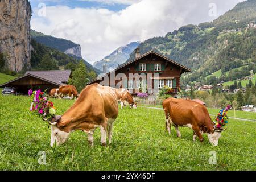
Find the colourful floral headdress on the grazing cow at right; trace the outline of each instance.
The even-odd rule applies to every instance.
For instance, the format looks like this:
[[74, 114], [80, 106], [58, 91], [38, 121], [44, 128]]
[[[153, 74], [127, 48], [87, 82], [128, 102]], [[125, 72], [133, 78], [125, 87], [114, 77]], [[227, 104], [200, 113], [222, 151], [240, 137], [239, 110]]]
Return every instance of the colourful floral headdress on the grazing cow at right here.
[[214, 124], [215, 124], [215, 131], [222, 131], [224, 130], [224, 126], [228, 123], [228, 110], [231, 108], [230, 105], [226, 106], [225, 109], [221, 109], [218, 114], [216, 115]]

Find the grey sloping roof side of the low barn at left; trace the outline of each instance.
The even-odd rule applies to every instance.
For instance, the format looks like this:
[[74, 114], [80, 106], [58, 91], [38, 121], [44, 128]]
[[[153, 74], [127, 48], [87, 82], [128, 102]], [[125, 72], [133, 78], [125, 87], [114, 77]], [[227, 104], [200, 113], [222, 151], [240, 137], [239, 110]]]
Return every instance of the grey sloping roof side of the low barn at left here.
[[71, 70], [46, 70], [46, 71], [27, 71], [25, 75], [30, 74], [36, 77], [45, 78], [53, 82], [68, 82], [68, 78], [71, 75]]

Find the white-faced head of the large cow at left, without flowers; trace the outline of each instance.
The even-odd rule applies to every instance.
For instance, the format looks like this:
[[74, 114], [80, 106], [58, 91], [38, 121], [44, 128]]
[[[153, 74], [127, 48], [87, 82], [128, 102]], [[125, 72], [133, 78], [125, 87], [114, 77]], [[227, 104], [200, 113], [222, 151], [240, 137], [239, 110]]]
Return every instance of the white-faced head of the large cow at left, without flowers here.
[[69, 137], [70, 132], [65, 132], [57, 127], [57, 122], [61, 119], [61, 115], [56, 115], [48, 123], [51, 125], [51, 146], [56, 143], [57, 146], [63, 144]]

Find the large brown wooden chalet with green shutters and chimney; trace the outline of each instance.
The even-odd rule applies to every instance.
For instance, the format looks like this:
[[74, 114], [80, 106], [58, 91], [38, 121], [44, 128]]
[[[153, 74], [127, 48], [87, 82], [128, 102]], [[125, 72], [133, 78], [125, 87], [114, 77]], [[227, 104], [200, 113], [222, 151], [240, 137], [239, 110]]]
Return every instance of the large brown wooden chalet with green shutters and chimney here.
[[[153, 94], [152, 90], [155, 88], [158, 90], [163, 88], [164, 85], [167, 85], [173, 89], [172, 96], [176, 97], [177, 92], [180, 90], [180, 76], [184, 72], [191, 72], [191, 69], [154, 51], [149, 51], [141, 55], [139, 48], [137, 48], [135, 50], [134, 60], [121, 65], [121, 67], [98, 77], [88, 84], [102, 84], [102, 81], [109, 79], [109, 86], [128, 89], [132, 94], [137, 94], [139, 92]], [[132, 78], [129, 77], [129, 74], [134, 75], [135, 73], [138, 73], [137, 76], [139, 75], [139, 78], [136, 76], [133, 76]], [[146, 75], [146, 79], [141, 78], [142, 73], [144, 73], [143, 75]], [[117, 75], [122, 74], [125, 74], [127, 78], [124, 80], [116, 79]], [[115, 78], [114, 83], [113, 80], [112, 82], [110, 81], [112, 75], [114, 75]], [[119, 83], [120, 81], [122, 81], [122, 84]], [[151, 83], [149, 84], [148, 82]], [[143, 87], [146, 88], [146, 90], [142, 91], [141, 88]]]

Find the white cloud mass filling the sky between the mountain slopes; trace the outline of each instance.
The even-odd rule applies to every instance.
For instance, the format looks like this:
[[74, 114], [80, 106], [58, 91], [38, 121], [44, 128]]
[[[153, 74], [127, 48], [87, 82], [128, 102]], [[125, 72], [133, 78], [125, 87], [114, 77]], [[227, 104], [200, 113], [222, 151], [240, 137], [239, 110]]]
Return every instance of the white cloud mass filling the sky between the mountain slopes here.
[[[81, 0], [98, 1], [103, 0]], [[118, 3], [121, 0], [107, 0]], [[106, 2], [106, 1], [105, 1]], [[108, 9], [46, 7], [46, 17], [37, 15], [34, 9], [31, 27], [44, 34], [79, 43], [82, 56], [90, 63], [131, 41], [143, 41], [188, 23], [201, 23], [217, 17], [209, 17], [209, 3], [217, 5], [217, 14], [232, 9], [241, 0], [125, 0], [131, 5], [118, 12]], [[229, 2], [229, 3], [228, 3]], [[225, 7], [224, 7], [225, 6]]]

